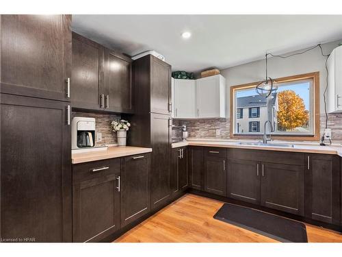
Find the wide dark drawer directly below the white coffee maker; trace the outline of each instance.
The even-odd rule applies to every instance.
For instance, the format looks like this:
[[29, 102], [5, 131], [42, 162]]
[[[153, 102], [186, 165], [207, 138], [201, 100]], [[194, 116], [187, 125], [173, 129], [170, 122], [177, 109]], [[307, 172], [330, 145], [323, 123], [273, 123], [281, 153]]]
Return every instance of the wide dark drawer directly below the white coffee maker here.
[[120, 173], [120, 158], [73, 165], [73, 184], [104, 175]]

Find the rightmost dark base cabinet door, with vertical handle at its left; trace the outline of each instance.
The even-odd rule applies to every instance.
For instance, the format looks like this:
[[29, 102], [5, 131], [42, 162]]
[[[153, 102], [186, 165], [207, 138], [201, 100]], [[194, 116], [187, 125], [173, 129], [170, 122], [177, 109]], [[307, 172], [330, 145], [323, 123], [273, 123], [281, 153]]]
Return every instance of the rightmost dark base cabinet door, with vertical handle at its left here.
[[306, 217], [339, 224], [339, 158], [325, 154], [307, 154], [306, 160]]

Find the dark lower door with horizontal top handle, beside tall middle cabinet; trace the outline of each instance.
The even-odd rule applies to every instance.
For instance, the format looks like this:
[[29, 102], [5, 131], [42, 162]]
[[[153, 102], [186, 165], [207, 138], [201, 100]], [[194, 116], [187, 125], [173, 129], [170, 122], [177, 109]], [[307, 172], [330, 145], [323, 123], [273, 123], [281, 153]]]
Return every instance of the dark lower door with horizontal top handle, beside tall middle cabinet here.
[[129, 156], [121, 160], [121, 226], [150, 211], [150, 155]]

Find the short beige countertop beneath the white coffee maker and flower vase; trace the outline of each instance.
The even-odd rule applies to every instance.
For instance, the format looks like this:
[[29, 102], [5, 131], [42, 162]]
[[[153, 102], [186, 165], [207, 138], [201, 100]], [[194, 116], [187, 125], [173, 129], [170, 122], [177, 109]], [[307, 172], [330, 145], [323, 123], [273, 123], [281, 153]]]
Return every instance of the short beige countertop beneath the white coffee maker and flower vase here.
[[118, 158], [123, 156], [133, 156], [134, 154], [145, 154], [152, 151], [152, 148], [145, 147], [108, 147], [107, 149], [98, 151], [86, 151], [82, 153], [71, 154], [71, 162], [73, 164], [82, 162], [92, 162], [95, 160], [105, 160], [110, 158]]

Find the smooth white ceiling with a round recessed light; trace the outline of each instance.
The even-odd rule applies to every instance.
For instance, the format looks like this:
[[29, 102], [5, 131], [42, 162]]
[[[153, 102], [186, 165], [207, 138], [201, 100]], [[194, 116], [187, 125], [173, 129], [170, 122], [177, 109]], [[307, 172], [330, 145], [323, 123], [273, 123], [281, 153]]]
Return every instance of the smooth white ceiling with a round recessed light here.
[[[224, 69], [342, 38], [342, 15], [73, 15], [73, 30], [131, 56], [155, 50], [173, 71]], [[181, 38], [189, 31], [192, 37]]]

